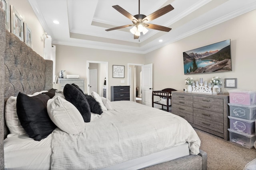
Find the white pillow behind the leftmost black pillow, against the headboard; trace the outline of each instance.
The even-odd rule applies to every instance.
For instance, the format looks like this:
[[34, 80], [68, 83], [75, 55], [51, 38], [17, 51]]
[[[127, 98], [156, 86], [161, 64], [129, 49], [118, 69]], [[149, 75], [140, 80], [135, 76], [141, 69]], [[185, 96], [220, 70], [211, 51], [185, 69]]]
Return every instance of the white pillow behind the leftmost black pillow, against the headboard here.
[[[48, 92], [46, 90], [41, 92], [35, 92], [34, 94], [28, 94], [28, 96], [36, 96], [43, 92]], [[26, 134], [26, 131], [23, 129], [22, 125], [20, 124], [20, 120], [17, 115], [16, 109], [17, 97], [11, 96], [6, 101], [5, 105], [5, 120], [10, 133], [12, 134]]]

